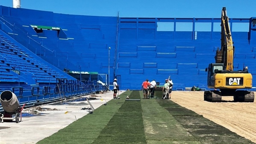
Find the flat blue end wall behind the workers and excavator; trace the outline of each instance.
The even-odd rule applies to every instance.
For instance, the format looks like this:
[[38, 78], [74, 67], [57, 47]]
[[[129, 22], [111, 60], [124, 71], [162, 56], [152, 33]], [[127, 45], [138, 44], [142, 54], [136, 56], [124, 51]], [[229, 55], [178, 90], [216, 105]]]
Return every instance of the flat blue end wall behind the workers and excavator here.
[[[160, 31], [159, 22], [173, 23], [170, 31]], [[179, 23], [191, 23], [191, 31], [177, 30]], [[197, 23], [210, 23], [210, 31], [197, 31]], [[221, 46], [221, 33], [214, 31], [220, 19], [197, 18], [120, 18], [117, 75], [121, 86], [140, 89], [145, 79], [156, 79], [160, 85], [168, 76], [174, 81], [174, 90], [185, 90], [193, 85], [207, 88], [205, 68], [214, 63], [215, 53]], [[233, 23], [251, 23], [251, 19], [230, 19]], [[166, 25], [167, 26], [167, 25]], [[219, 25], [218, 25], [219, 26]], [[219, 26], [220, 27], [220, 26]], [[232, 23], [230, 24], [232, 30]], [[165, 27], [168, 29], [168, 27]], [[184, 26], [184, 29], [188, 29]], [[254, 32], [252, 32], [253, 34]], [[234, 69], [244, 66], [256, 74], [255, 37], [248, 32], [232, 32], [235, 46]], [[253, 86], [256, 85], [253, 79]]]

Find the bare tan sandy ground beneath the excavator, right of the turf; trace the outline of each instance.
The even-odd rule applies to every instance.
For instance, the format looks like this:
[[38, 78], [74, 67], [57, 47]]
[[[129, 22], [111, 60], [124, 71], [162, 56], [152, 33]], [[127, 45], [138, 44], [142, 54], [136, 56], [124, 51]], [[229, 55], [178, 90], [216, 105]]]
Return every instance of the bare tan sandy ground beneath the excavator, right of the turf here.
[[173, 91], [171, 100], [256, 143], [256, 99], [233, 103], [233, 97], [222, 97], [211, 103], [203, 100], [203, 91]]

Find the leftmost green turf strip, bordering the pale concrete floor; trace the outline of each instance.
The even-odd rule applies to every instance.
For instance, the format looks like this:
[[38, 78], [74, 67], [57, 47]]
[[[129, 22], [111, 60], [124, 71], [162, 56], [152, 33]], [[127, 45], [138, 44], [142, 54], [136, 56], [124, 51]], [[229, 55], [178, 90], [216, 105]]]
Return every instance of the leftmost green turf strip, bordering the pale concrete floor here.
[[120, 94], [121, 99], [110, 100], [106, 106], [95, 109], [92, 115], [85, 115], [37, 144], [91, 144], [131, 92], [125, 91]]

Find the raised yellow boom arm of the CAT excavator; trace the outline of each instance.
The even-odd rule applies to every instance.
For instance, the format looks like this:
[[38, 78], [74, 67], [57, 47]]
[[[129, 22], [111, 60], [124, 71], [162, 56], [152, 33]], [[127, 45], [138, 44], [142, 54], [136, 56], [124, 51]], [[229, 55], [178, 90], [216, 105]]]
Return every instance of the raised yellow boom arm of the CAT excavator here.
[[216, 51], [215, 63], [223, 63], [224, 70], [233, 71], [234, 52], [235, 47], [233, 46], [229, 18], [226, 7], [223, 7], [221, 13], [221, 50]]

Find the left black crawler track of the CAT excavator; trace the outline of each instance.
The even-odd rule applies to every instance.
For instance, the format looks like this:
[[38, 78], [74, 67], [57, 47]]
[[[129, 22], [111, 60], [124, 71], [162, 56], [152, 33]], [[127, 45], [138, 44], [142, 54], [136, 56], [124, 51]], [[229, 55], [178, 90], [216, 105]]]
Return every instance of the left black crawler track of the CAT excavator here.
[[219, 91], [205, 91], [204, 100], [209, 102], [221, 102], [221, 92]]

